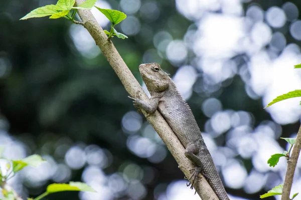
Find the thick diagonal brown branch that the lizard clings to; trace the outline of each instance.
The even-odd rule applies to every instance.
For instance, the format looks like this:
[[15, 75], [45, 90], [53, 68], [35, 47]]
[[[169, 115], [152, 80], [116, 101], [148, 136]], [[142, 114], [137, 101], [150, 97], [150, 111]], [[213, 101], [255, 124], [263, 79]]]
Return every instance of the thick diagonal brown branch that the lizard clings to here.
[[[76, 0], [76, 4], [81, 4], [84, 0]], [[117, 76], [121, 80], [122, 84], [124, 85], [126, 91], [131, 95], [134, 96], [137, 91], [139, 91], [141, 95], [141, 99], [147, 99], [147, 95], [142, 90], [142, 87], [135, 79], [121, 56], [119, 55], [118, 51], [116, 50], [114, 44], [107, 40], [107, 35], [104, 33], [101, 26], [96, 21], [95, 17], [93, 16], [90, 10], [79, 9], [78, 15], [81, 20], [84, 22], [84, 27], [89, 31], [91, 36], [94, 38], [96, 44], [99, 46], [101, 51], [103, 52], [104, 56], [109, 61], [110, 65], [116, 72]], [[168, 149], [171, 151], [172, 155], [175, 157], [176, 161], [178, 162], [181, 170], [187, 177], [191, 177], [192, 173], [190, 169], [193, 169], [194, 166], [192, 163], [186, 158], [184, 155], [184, 147], [182, 143], [179, 141], [178, 137], [174, 134], [173, 130], [170, 128], [168, 123], [162, 117], [160, 112], [157, 110], [154, 114], [146, 115], [143, 112], [144, 116], [146, 117], [147, 121], [154, 127], [157, 133], [160, 135], [162, 140], [167, 145]], [[202, 199], [206, 200], [218, 200], [218, 197], [208, 184], [207, 180], [200, 174], [198, 181], [196, 182], [197, 187], [196, 191], [200, 195]], [[188, 189], [188, 188], [187, 188]]]

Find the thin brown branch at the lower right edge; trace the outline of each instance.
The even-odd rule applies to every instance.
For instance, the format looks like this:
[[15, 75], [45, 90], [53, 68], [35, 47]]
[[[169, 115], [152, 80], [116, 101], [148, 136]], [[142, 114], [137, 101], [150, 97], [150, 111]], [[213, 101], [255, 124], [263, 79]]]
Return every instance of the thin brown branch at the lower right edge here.
[[282, 188], [282, 196], [281, 200], [289, 200], [289, 194], [291, 190], [291, 185], [292, 185], [292, 180], [293, 180], [293, 174], [296, 168], [297, 160], [299, 157], [300, 153], [300, 148], [301, 148], [301, 125], [299, 127], [296, 141], [294, 143], [291, 156], [287, 160], [287, 169], [285, 173], [285, 179], [284, 179], [284, 184]]

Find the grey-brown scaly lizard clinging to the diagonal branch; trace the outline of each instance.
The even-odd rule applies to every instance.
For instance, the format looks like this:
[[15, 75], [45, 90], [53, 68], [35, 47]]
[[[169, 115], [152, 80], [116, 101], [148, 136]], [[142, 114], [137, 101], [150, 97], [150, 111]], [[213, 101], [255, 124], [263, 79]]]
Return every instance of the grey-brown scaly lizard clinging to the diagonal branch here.
[[191, 188], [201, 172], [220, 200], [229, 199], [194, 115], [173, 80], [158, 63], [140, 64], [139, 70], [151, 98], [146, 102], [137, 95], [133, 103], [147, 113], [158, 109], [171, 126], [185, 147], [186, 157], [195, 165]]

